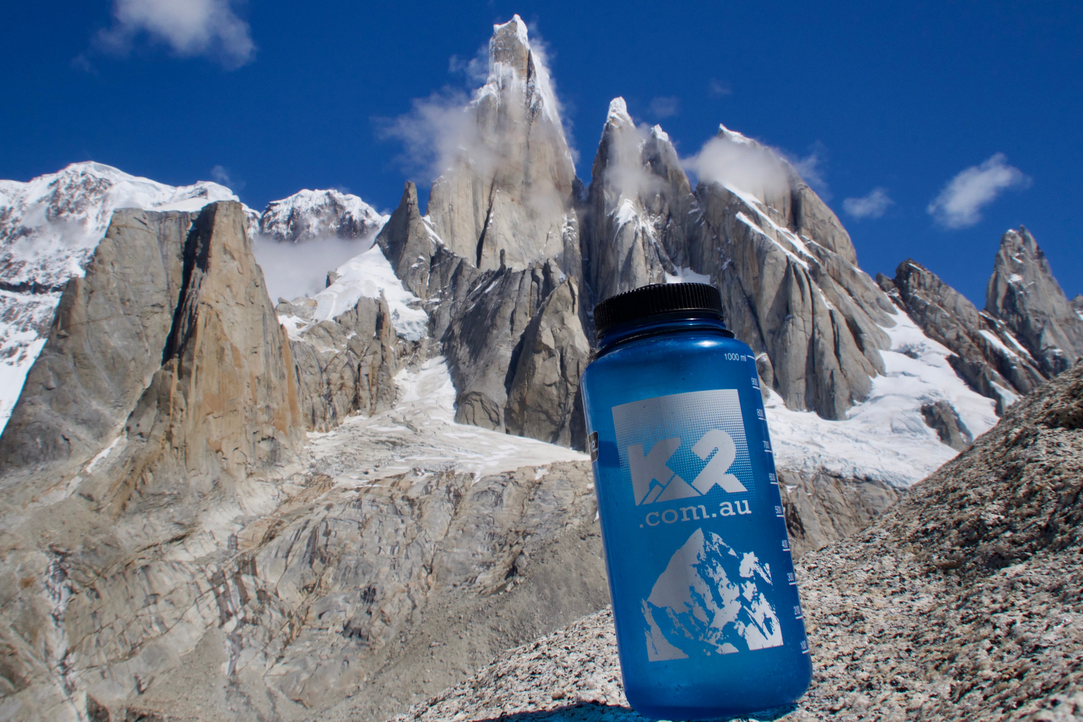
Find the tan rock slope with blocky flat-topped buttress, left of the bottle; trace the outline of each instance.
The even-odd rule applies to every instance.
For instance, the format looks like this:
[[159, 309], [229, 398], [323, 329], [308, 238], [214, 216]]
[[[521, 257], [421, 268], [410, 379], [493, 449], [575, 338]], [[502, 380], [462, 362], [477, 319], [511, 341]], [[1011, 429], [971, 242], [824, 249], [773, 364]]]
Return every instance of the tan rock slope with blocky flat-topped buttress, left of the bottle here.
[[[8, 719], [301, 719], [347, 698], [377, 719], [604, 603], [589, 470], [551, 449], [579, 455], [464, 448], [442, 363], [428, 392], [395, 388], [382, 298], [303, 332], [332, 353], [302, 373], [245, 228], [236, 202], [118, 212], [65, 289], [3, 436]], [[119, 360], [90, 353], [104, 339]], [[304, 446], [306, 421], [363, 401], [370, 425]]]

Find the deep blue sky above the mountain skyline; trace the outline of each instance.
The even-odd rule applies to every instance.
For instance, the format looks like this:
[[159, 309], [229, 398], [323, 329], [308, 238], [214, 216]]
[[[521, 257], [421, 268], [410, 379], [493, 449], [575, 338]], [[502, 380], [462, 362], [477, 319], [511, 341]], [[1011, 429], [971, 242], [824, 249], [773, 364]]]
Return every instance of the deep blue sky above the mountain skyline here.
[[912, 257], [982, 306], [1000, 235], [1022, 223], [1083, 292], [1081, 3], [190, 0], [203, 25], [178, 5], [8, 3], [0, 178], [93, 159], [186, 184], [218, 167], [259, 209], [302, 187], [391, 209], [428, 179], [381, 123], [468, 90], [454, 68], [519, 13], [549, 49], [584, 181], [623, 95], [682, 155], [723, 122], [804, 159], [871, 274]]

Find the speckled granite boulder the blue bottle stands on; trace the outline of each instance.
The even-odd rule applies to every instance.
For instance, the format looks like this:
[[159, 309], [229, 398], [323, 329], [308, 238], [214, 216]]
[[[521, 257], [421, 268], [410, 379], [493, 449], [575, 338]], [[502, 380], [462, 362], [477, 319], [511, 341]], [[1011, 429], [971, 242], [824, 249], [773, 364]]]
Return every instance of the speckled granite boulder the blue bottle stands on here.
[[[1083, 364], [861, 534], [798, 563], [814, 675], [756, 719], [1083, 714]], [[395, 720], [638, 720], [609, 609], [512, 649]]]

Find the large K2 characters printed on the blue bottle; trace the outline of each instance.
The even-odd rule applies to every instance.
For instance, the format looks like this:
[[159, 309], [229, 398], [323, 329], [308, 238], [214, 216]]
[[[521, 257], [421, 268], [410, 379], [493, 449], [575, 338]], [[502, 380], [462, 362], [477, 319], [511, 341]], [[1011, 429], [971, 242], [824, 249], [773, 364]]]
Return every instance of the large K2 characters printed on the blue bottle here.
[[710, 429], [692, 445], [692, 454], [706, 461], [707, 465], [696, 474], [691, 484], [667, 465], [680, 445], [680, 436], [663, 438], [645, 455], [642, 444], [628, 445], [628, 469], [631, 472], [636, 506], [697, 497], [707, 494], [715, 486], [720, 486], [730, 494], [748, 490], [741, 480], [729, 473], [738, 449], [728, 433]]

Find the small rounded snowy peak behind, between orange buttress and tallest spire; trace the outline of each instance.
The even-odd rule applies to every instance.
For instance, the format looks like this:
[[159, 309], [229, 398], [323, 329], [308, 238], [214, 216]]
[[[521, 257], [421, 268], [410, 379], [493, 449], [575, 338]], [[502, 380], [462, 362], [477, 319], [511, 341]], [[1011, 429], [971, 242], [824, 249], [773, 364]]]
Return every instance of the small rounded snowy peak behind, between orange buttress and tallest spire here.
[[357, 196], [304, 189], [268, 204], [259, 233], [295, 244], [327, 237], [368, 238], [379, 233], [389, 218]]

